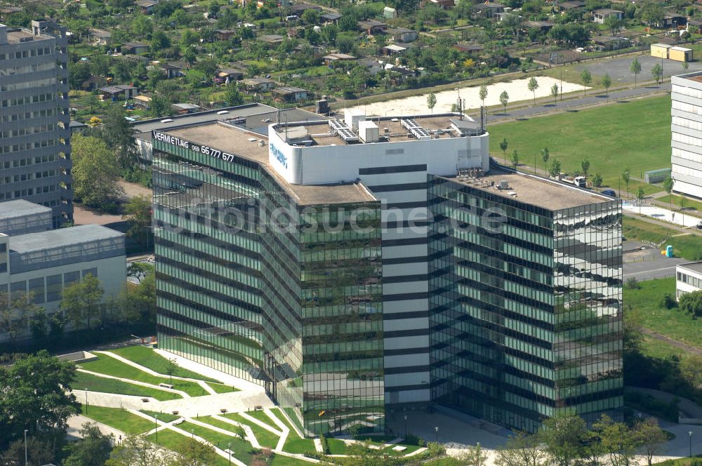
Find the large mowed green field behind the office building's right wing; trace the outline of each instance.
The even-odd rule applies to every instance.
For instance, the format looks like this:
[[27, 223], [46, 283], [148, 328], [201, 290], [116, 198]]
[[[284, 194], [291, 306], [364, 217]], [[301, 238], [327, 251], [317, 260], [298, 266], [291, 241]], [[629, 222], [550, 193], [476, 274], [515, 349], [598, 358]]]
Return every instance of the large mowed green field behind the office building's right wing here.
[[[590, 174], [600, 173], [604, 185], [618, 187], [625, 167], [631, 178], [642, 172], [670, 167], [670, 96], [613, 103], [602, 107], [536, 116], [524, 121], [491, 124], [490, 153], [503, 159], [500, 142], [508, 141], [507, 157], [515, 149], [519, 161], [534, 165], [543, 175], [543, 161], [538, 152], [548, 147], [551, 159], [558, 159], [564, 173], [581, 170], [581, 161], [590, 161]], [[639, 183], [631, 180], [629, 191], [635, 193]], [[621, 183], [625, 191], [624, 182]], [[646, 194], [662, 191], [644, 185]], [[634, 194], [631, 194], [632, 196]]]

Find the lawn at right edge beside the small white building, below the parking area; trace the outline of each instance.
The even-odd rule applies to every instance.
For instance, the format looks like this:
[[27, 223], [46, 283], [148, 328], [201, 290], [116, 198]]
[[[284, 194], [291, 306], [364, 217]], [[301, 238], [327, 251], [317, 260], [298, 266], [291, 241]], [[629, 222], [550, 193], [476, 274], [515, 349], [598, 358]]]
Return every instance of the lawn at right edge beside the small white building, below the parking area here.
[[641, 281], [640, 289], [624, 288], [623, 302], [636, 309], [641, 324], [674, 340], [702, 348], [702, 320], [692, 319], [677, 308], [665, 309], [663, 295], [675, 296], [675, 277]]

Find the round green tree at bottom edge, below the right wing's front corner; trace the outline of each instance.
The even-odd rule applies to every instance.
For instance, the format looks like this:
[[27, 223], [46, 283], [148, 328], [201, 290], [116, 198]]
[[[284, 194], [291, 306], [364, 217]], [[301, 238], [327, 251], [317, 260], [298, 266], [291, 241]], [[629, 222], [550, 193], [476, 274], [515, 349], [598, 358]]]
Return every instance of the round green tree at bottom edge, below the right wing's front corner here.
[[580, 416], [557, 412], [552, 418], [543, 421], [538, 437], [552, 462], [559, 466], [569, 466], [576, 458], [585, 455], [588, 430]]

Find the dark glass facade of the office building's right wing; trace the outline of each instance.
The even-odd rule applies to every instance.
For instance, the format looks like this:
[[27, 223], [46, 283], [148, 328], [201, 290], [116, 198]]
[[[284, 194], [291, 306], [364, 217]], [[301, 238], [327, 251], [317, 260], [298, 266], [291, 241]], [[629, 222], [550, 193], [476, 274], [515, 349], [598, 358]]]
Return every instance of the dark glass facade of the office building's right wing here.
[[432, 399], [531, 432], [559, 410], [616, 415], [618, 201], [550, 211], [432, 176], [428, 199]]

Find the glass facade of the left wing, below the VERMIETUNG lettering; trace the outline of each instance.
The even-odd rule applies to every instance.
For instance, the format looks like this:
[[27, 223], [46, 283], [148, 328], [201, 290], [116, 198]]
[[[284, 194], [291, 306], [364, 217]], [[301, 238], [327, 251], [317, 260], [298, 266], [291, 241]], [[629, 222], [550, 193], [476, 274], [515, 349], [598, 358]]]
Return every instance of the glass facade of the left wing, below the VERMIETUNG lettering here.
[[153, 144], [159, 346], [307, 434], [384, 430], [380, 203], [298, 205], [256, 161]]

